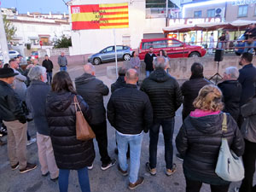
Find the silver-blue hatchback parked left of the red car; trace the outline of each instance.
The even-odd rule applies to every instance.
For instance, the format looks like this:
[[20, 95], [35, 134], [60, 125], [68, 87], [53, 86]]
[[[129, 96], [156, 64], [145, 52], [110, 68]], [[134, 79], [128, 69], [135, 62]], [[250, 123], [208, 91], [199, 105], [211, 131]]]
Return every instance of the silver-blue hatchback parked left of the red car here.
[[[131, 59], [132, 50], [128, 46], [117, 45], [117, 59], [129, 61]], [[100, 52], [90, 55], [88, 57], [88, 62], [99, 65], [102, 62], [115, 61], [115, 51], [114, 46], [109, 46], [105, 49], [102, 49]]]

